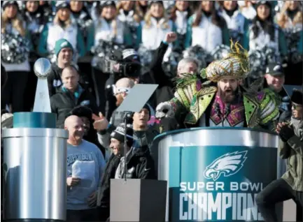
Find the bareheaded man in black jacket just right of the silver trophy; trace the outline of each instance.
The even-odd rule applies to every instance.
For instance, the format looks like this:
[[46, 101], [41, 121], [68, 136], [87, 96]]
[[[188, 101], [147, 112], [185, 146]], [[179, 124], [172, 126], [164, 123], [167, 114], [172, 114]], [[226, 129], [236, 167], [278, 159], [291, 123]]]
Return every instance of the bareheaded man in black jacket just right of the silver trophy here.
[[85, 105], [94, 114], [98, 113], [97, 105], [90, 91], [79, 84], [79, 74], [76, 68], [68, 66], [62, 71], [62, 87], [50, 98], [50, 107], [57, 114], [57, 127], [63, 128], [66, 115], [78, 105]]

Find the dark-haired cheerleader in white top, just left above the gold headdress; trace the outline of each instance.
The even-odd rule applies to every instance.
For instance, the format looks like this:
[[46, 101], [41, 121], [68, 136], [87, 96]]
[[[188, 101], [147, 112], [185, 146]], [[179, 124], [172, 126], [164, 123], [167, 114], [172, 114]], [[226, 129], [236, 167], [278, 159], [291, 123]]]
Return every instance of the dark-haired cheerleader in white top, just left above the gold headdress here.
[[214, 1], [201, 1], [197, 13], [188, 21], [185, 47], [199, 45], [212, 52], [218, 45], [230, 45], [230, 34]]

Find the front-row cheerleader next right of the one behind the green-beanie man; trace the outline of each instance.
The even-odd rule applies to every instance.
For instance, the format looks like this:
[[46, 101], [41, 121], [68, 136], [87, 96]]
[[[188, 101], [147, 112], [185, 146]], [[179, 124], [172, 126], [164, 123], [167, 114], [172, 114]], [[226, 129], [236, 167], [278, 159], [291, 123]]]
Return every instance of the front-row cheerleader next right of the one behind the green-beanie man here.
[[[94, 21], [94, 25], [88, 34], [87, 50], [90, 50], [94, 55], [92, 59], [92, 80], [94, 82], [97, 105], [99, 110], [105, 114], [105, 85], [110, 71], [104, 70], [104, 68], [107, 68], [104, 64], [98, 66], [101, 56], [95, 53], [94, 49], [100, 45], [105, 45], [104, 49], [102, 49], [103, 52], [101, 52], [102, 56], [105, 57], [108, 51], [113, 50], [114, 45], [119, 47], [132, 45], [132, 36], [129, 35], [125, 24], [118, 20], [115, 1], [101, 1], [99, 12], [99, 19]], [[101, 61], [103, 60], [104, 58], [101, 59]]]

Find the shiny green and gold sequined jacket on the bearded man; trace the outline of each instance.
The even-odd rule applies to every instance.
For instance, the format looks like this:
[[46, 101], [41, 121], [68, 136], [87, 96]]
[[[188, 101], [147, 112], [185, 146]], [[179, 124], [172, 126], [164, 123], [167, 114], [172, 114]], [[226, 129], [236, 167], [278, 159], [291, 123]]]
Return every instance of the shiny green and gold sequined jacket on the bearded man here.
[[[174, 98], [169, 101], [174, 108], [176, 119], [185, 115], [184, 124], [197, 124], [217, 91], [217, 87], [202, 84], [195, 77], [179, 82]], [[276, 119], [279, 117], [278, 101], [265, 91], [260, 91], [258, 94], [243, 93], [243, 96], [248, 128], [274, 130]]]

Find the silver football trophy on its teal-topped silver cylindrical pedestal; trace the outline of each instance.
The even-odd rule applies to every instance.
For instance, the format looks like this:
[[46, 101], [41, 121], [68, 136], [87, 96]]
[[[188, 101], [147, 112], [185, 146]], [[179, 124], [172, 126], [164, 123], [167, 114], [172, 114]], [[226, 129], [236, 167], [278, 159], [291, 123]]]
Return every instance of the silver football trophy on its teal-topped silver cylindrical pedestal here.
[[48, 59], [34, 64], [34, 112], [15, 112], [3, 138], [3, 220], [66, 221], [66, 140], [51, 113]]

